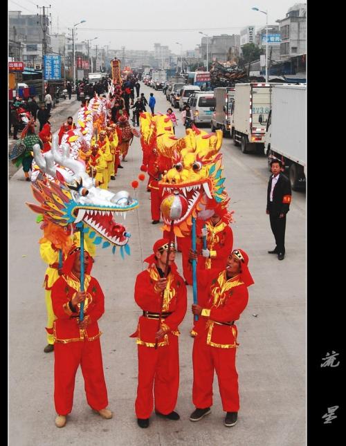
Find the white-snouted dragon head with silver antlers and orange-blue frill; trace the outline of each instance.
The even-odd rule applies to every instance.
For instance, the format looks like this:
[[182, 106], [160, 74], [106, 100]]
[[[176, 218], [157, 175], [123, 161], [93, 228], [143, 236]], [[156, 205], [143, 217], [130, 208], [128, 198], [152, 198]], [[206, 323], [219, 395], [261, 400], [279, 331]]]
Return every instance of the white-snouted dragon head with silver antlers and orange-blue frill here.
[[[53, 137], [51, 151], [45, 156], [40, 153], [38, 145], [33, 150], [42, 171], [59, 180], [60, 184], [56, 180], [50, 180], [45, 185], [37, 180], [32, 189], [39, 206], [26, 203], [28, 207], [60, 226], [74, 223], [81, 227], [84, 223], [86, 231], [91, 230], [89, 238], [94, 238], [93, 243], [96, 245], [103, 240], [103, 248], [109, 245], [127, 245], [129, 233], [123, 225], [114, 221], [113, 215], [120, 214], [125, 219], [126, 212], [138, 207], [138, 201], [131, 198], [127, 191], [113, 194], [95, 187], [92, 178], [86, 174], [84, 163], [71, 158], [69, 145], [62, 145], [60, 151], [57, 150], [56, 136]], [[60, 167], [55, 167], [53, 160]]]

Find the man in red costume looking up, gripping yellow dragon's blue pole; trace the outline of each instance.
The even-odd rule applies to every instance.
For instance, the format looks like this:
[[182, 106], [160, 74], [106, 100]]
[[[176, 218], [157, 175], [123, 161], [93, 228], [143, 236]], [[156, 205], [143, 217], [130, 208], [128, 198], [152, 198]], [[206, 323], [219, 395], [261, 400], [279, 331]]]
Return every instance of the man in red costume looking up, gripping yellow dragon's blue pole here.
[[210, 414], [212, 381], [216, 370], [222, 407], [226, 411], [224, 425], [230, 427], [237, 422], [239, 411], [235, 367], [235, 351], [239, 344], [235, 321], [246, 308], [248, 286], [254, 283], [248, 270], [248, 255], [243, 250], [234, 250], [221, 272], [208, 270], [198, 277], [199, 304], [192, 304], [192, 313], [199, 315], [194, 325], [196, 336], [192, 352], [192, 401], [196, 409], [190, 420], [198, 421]]

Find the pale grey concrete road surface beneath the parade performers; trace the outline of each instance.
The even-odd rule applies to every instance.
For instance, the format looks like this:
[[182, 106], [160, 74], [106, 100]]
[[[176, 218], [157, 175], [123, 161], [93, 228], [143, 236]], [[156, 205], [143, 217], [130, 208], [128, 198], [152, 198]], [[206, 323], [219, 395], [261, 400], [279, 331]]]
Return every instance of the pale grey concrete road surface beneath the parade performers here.
[[[161, 91], [141, 86], [148, 98], [154, 92], [156, 111], [170, 104]], [[66, 110], [66, 116], [70, 114]], [[183, 136], [180, 113], [177, 136]], [[180, 326], [181, 377], [176, 411], [179, 421], [152, 415], [149, 429], [140, 429], [134, 414], [137, 385], [134, 333], [140, 310], [134, 302], [134, 281], [145, 268], [143, 259], [161, 237], [152, 225], [149, 194], [141, 183], [136, 191], [138, 210], [127, 215], [131, 232], [131, 256], [122, 261], [111, 250], [98, 248], [93, 275], [105, 295], [105, 313], [99, 325], [109, 408], [114, 416], [103, 420], [86, 404], [80, 370], [75, 384], [73, 411], [66, 427], [54, 424], [53, 353], [46, 345], [46, 307], [42, 282], [46, 266], [39, 257], [42, 231], [36, 214], [24, 204], [35, 202], [30, 183], [22, 172], [9, 183], [9, 444], [15, 446], [303, 446], [306, 443], [305, 340], [306, 340], [306, 213], [305, 194], [293, 192], [286, 225], [286, 257], [278, 261], [267, 254], [274, 248], [266, 215], [268, 167], [265, 156], [242, 154], [230, 139], [224, 139], [226, 189], [234, 210], [232, 229], [235, 248], [249, 256], [255, 284], [249, 288], [249, 303], [237, 323], [239, 349], [240, 411], [235, 427], [225, 427], [217, 378], [212, 413], [199, 422], [188, 419], [192, 405], [192, 287], [188, 287], [188, 313]], [[111, 182], [111, 190], [131, 190], [140, 173], [140, 141], [134, 138], [128, 162]], [[146, 184], [146, 182], [145, 182]], [[118, 217], [120, 218], [120, 217]], [[123, 222], [122, 222], [123, 223]], [[181, 254], [177, 253], [181, 270]]]

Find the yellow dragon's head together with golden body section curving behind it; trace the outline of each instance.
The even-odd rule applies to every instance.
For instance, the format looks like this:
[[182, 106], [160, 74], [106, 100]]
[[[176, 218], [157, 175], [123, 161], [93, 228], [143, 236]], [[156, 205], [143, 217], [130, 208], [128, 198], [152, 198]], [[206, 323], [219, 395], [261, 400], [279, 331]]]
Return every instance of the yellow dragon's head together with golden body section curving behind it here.
[[162, 193], [163, 230], [170, 230], [170, 210], [179, 201], [181, 216], [174, 220], [176, 236], [190, 235], [192, 217], [208, 219], [216, 208], [226, 210], [228, 194], [224, 187], [222, 131], [207, 133], [197, 127], [176, 138], [172, 121], [166, 115], [140, 116], [143, 151], [156, 148], [170, 160], [170, 168], [158, 183]]

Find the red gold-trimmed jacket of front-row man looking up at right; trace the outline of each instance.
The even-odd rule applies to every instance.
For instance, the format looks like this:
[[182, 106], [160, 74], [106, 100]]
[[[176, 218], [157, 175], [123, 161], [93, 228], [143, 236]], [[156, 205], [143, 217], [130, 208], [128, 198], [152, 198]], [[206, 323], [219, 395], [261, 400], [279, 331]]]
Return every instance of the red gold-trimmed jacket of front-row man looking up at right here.
[[199, 305], [203, 307], [194, 331], [203, 335], [207, 331], [206, 342], [213, 347], [231, 349], [237, 347], [237, 327], [224, 325], [239, 319], [248, 304], [248, 288], [239, 275], [226, 278], [226, 270], [212, 269], [198, 277]]

